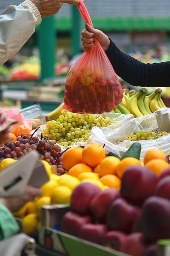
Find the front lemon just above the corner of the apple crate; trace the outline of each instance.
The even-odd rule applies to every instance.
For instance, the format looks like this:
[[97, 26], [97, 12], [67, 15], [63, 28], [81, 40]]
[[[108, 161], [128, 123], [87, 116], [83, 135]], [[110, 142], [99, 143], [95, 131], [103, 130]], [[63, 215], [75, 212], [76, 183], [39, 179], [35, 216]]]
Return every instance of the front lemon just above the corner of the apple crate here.
[[58, 186], [51, 195], [52, 204], [69, 204], [72, 191], [66, 186]]

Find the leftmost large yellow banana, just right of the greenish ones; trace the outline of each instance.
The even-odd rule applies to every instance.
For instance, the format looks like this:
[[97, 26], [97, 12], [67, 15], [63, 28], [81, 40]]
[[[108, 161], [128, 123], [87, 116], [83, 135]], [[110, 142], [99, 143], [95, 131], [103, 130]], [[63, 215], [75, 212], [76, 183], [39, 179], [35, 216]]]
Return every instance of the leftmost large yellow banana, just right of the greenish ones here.
[[127, 101], [127, 108], [130, 111], [130, 113], [133, 114], [134, 117], [143, 116], [138, 107], [138, 98], [141, 95], [142, 92], [139, 90], [139, 92], [136, 93], [136, 95], [130, 97]]

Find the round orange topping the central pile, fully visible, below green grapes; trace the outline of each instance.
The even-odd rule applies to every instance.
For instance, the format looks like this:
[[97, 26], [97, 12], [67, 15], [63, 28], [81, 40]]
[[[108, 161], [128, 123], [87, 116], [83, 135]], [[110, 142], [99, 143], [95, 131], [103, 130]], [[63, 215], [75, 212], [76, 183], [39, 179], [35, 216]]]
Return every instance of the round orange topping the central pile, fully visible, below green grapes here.
[[105, 159], [105, 149], [98, 143], [91, 143], [83, 149], [82, 159], [88, 166], [96, 167]]

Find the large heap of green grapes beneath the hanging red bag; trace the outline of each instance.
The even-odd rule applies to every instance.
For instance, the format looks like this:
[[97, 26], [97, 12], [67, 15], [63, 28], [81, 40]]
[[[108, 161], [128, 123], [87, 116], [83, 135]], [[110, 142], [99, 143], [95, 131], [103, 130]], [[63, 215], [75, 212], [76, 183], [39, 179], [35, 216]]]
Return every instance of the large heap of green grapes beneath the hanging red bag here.
[[42, 135], [49, 135], [50, 140], [56, 140], [61, 146], [73, 145], [78, 141], [88, 139], [94, 126], [108, 127], [111, 119], [104, 115], [87, 115], [61, 111], [62, 115], [57, 120], [49, 121]]

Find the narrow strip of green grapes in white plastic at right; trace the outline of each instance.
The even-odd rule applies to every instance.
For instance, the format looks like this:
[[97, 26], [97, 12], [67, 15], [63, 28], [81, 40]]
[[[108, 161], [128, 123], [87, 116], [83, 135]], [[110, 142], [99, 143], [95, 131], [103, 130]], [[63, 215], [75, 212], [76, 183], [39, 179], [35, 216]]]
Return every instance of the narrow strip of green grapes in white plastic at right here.
[[[167, 134], [170, 134], [166, 131], [158, 131], [158, 132], [152, 132], [152, 131], [137, 131], [136, 134], [133, 134], [132, 132], [129, 134], [129, 136], [125, 137], [124, 140], [130, 140], [130, 141], [136, 141], [136, 140], [157, 140], [162, 136], [165, 136]], [[114, 143], [115, 145], [119, 145], [122, 141], [118, 143]]]

